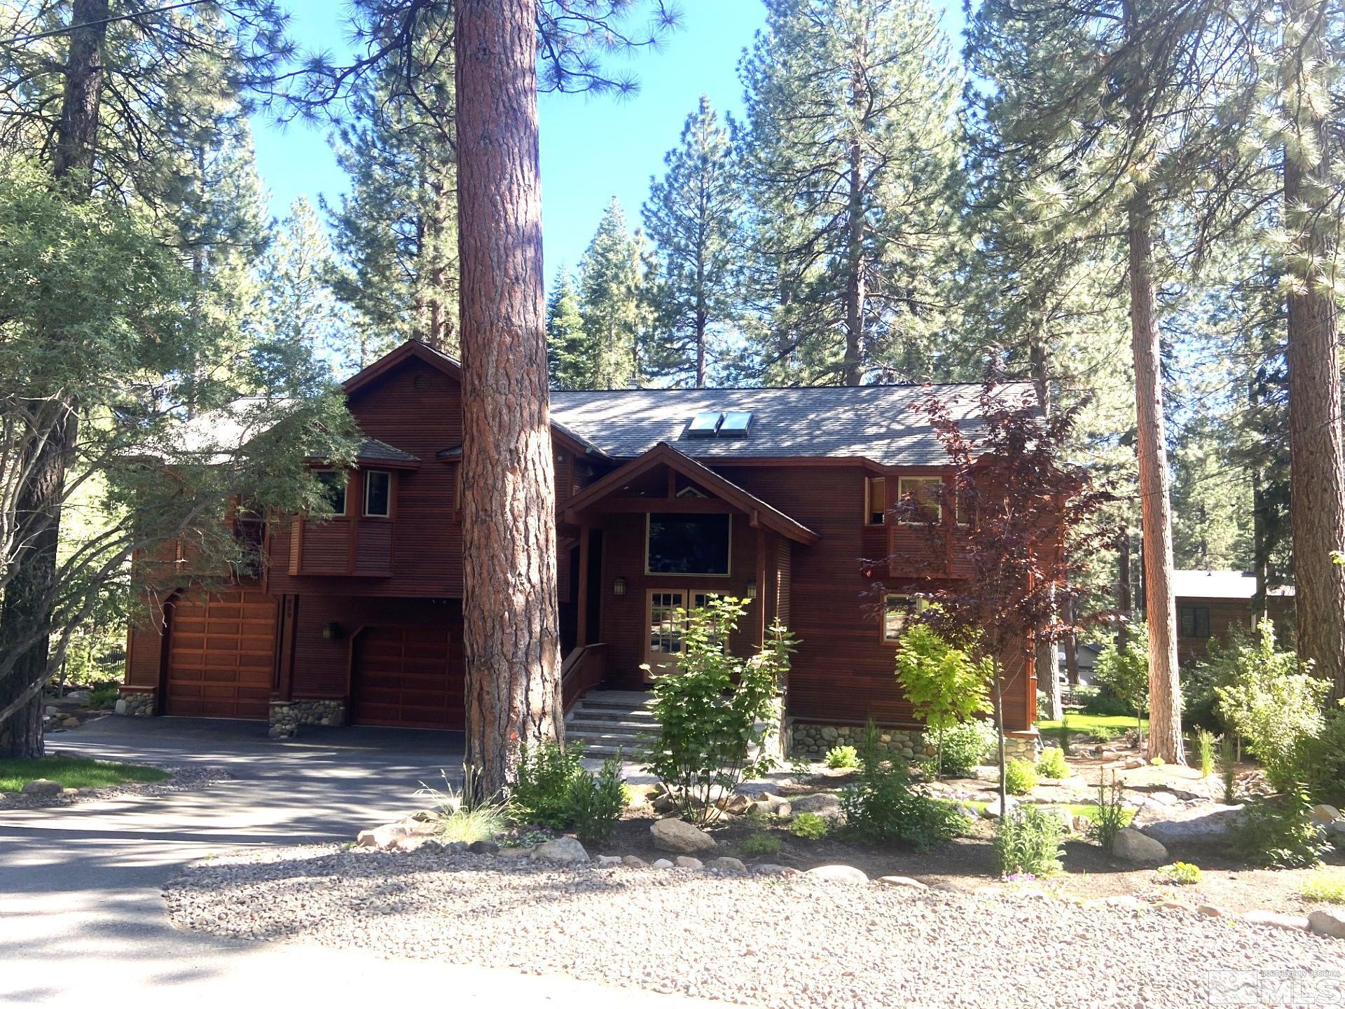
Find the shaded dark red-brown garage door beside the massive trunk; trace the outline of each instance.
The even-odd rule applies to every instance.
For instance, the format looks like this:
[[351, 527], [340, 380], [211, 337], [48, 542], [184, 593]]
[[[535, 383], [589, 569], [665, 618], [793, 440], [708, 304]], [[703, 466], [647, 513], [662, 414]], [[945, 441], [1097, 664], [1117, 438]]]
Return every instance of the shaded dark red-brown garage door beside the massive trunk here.
[[362, 725], [463, 728], [463, 667], [445, 627], [366, 627], [355, 638], [351, 708]]

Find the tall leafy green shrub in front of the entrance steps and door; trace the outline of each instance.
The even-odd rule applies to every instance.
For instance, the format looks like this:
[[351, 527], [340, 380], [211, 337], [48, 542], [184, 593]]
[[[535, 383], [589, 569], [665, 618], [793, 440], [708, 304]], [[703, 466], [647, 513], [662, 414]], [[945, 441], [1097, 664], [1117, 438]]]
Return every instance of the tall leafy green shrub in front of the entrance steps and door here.
[[644, 770], [668, 788], [681, 815], [702, 826], [720, 817], [717, 794], [761, 778], [773, 763], [765, 743], [779, 729], [775, 696], [794, 644], [776, 626], [752, 659], [730, 655], [725, 642], [745, 609], [746, 600], [712, 595], [687, 613], [679, 671], [652, 686], [659, 731]]

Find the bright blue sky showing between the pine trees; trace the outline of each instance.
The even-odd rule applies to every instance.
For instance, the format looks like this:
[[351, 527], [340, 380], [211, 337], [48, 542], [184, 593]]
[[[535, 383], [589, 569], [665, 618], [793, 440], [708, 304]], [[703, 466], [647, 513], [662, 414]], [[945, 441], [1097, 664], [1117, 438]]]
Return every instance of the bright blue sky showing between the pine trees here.
[[[960, 4], [940, 3], [947, 27], [962, 24]], [[344, 20], [331, 0], [289, 0], [292, 31], [305, 50], [346, 50]], [[658, 51], [642, 51], [629, 63], [640, 90], [631, 98], [543, 94], [542, 227], [546, 274], [564, 262], [574, 266], [603, 207], [616, 196], [632, 226], [648, 192], [650, 176], [663, 167], [682, 124], [699, 96], [734, 116], [742, 108], [737, 63], [765, 20], [759, 0], [681, 0], [682, 28]], [[327, 147], [325, 130], [303, 124], [254, 122], [257, 163], [272, 194], [272, 213], [284, 215], [299, 195], [313, 203], [346, 187]]]

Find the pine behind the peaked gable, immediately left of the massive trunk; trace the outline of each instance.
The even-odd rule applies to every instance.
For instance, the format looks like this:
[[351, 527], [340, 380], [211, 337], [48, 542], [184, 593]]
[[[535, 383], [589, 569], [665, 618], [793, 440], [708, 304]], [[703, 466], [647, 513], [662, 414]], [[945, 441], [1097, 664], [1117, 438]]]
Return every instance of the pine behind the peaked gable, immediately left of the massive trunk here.
[[332, 136], [351, 176], [340, 206], [327, 207], [343, 254], [332, 287], [355, 313], [356, 367], [408, 339], [457, 352], [451, 36], [447, 13], [418, 20], [409, 63], [363, 78]]

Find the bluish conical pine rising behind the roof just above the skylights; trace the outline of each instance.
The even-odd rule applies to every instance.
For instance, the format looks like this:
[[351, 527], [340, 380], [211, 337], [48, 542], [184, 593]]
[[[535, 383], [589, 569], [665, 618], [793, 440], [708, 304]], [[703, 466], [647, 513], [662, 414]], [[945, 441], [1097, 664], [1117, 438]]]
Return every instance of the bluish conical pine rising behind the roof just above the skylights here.
[[741, 187], [730, 135], [701, 96], [682, 128], [682, 143], [664, 157], [667, 171], [652, 180], [644, 204], [644, 231], [654, 244], [648, 281], [656, 339], [651, 375], [702, 387], [710, 371], [710, 340], [732, 320], [742, 253]]

